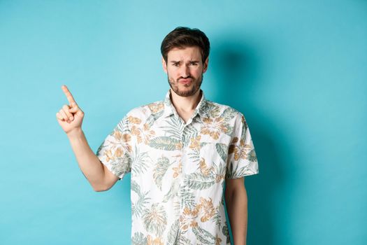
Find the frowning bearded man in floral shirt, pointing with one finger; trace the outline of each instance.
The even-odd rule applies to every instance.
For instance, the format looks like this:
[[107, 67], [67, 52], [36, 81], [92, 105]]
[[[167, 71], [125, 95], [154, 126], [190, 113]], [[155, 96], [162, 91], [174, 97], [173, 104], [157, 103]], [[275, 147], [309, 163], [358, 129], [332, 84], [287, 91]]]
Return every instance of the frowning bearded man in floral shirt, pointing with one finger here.
[[199, 29], [171, 31], [161, 43], [165, 99], [129, 111], [96, 154], [84, 113], [62, 87], [70, 105], [57, 120], [94, 190], [131, 172], [132, 244], [229, 244], [224, 200], [234, 244], [246, 243], [244, 176], [259, 172], [257, 157], [243, 115], [200, 89], [209, 50]]

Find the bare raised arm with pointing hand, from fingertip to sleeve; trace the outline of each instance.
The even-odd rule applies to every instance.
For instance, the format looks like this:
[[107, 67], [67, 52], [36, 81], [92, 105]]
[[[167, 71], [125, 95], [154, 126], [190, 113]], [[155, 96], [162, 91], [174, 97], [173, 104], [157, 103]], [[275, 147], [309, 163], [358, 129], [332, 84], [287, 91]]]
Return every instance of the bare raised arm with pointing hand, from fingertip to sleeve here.
[[65, 104], [56, 113], [57, 122], [69, 138], [80, 170], [92, 188], [95, 191], [108, 190], [116, 183], [118, 178], [101, 163], [89, 147], [85, 134], [82, 132], [84, 113], [76, 104], [68, 87], [62, 85], [62, 90], [68, 99], [69, 105]]

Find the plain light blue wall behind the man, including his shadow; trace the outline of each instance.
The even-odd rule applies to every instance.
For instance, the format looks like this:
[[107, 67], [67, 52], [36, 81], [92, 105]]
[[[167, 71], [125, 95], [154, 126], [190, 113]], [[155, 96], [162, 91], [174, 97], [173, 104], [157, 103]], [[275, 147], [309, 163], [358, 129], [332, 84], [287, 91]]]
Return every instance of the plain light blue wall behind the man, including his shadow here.
[[248, 244], [367, 244], [367, 1], [0, 0], [0, 244], [129, 244], [130, 175], [96, 193], [55, 113], [91, 148], [164, 98], [162, 39], [211, 42], [207, 99], [245, 114]]

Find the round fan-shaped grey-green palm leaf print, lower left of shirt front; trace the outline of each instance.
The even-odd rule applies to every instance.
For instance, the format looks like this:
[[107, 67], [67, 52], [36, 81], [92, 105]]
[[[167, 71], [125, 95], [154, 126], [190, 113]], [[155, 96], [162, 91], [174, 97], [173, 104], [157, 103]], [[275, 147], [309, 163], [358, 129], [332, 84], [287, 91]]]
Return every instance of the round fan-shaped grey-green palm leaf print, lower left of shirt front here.
[[161, 237], [167, 225], [167, 214], [164, 207], [155, 203], [152, 204], [151, 209], [145, 209], [143, 223], [148, 232], [152, 232], [157, 237]]

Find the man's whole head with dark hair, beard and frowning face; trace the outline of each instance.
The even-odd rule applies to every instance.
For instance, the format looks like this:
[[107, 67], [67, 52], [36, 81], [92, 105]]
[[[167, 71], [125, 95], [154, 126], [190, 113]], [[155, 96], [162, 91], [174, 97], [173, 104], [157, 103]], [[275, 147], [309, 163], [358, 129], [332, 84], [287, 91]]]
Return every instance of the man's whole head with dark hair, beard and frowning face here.
[[177, 27], [161, 43], [162, 65], [171, 89], [182, 97], [198, 92], [208, 68], [210, 43], [199, 29]]

